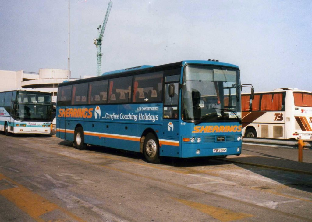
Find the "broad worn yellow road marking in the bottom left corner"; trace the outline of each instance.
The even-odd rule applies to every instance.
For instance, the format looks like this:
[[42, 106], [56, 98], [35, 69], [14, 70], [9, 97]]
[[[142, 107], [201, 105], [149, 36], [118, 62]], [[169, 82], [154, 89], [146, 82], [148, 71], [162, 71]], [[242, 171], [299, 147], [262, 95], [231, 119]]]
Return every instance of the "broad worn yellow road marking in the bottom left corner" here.
[[[5, 197], [7, 200], [12, 202], [16, 205], [19, 209], [27, 213], [36, 221], [45, 221], [41, 218], [44, 214], [54, 211], [60, 210], [64, 214], [70, 216], [76, 221], [84, 222], [78, 216], [72, 214], [71, 212], [61, 208], [60, 206], [51, 203], [49, 200], [41, 197], [38, 194], [33, 193], [31, 190], [28, 190], [26, 187], [16, 183], [15, 181], [11, 180], [10, 178], [0, 174], [0, 180], [6, 179], [10, 181], [12, 184], [16, 185], [17, 187], [9, 188], [6, 190], [0, 190], [0, 195]], [[64, 218], [66, 219], [66, 218]], [[60, 218], [61, 220], [61, 218]]]

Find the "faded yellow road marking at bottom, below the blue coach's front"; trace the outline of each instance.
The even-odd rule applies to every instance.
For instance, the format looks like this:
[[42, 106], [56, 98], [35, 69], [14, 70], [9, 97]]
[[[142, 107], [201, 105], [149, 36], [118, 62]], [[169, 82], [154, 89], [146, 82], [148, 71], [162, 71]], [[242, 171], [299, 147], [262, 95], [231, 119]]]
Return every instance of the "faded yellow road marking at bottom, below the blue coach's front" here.
[[221, 207], [201, 204], [201, 203], [197, 203], [197, 202], [193, 202], [189, 200], [182, 200], [182, 199], [173, 198], [173, 197], [171, 199], [176, 200], [181, 204], [192, 207], [196, 210], [201, 211], [202, 213], [210, 215], [213, 218], [220, 220], [220, 221], [224, 221], [224, 222], [233, 221], [233, 220], [241, 220], [241, 219], [245, 219], [248, 217], [254, 217], [254, 215], [251, 215], [251, 214], [237, 213], [232, 210], [227, 210]]

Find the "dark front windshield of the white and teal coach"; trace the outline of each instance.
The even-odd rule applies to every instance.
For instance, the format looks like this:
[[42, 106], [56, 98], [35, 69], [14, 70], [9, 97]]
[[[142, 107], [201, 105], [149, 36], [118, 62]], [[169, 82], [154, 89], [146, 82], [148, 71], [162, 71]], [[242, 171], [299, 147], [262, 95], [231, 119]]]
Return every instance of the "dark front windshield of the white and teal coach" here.
[[15, 116], [20, 121], [50, 121], [51, 95], [18, 92]]

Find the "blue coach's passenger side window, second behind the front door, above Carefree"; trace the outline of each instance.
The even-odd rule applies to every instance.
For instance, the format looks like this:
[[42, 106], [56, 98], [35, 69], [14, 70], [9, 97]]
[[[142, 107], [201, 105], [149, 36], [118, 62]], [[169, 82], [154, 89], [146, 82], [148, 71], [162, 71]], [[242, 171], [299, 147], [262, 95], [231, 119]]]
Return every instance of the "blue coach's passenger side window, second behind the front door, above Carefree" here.
[[111, 79], [109, 83], [108, 102], [129, 102], [131, 97], [132, 76]]

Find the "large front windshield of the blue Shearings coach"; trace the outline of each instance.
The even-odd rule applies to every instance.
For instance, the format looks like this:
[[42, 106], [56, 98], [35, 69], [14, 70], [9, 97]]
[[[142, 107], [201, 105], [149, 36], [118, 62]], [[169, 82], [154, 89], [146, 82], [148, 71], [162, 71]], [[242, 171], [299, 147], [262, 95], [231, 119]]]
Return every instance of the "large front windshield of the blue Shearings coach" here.
[[238, 69], [189, 65], [183, 80], [184, 121], [241, 121]]

